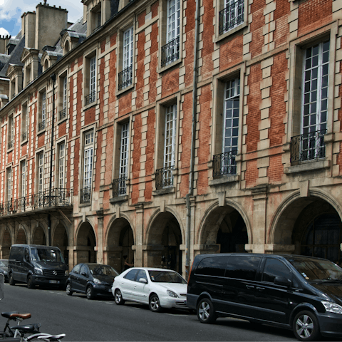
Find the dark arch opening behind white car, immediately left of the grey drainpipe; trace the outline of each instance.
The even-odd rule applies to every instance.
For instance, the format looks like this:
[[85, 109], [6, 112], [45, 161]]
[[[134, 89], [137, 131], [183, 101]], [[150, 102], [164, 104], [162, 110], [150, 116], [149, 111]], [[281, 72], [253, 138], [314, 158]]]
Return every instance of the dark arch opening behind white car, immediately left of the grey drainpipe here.
[[182, 274], [182, 231], [171, 212], [155, 217], [147, 234], [147, 266], [174, 269]]

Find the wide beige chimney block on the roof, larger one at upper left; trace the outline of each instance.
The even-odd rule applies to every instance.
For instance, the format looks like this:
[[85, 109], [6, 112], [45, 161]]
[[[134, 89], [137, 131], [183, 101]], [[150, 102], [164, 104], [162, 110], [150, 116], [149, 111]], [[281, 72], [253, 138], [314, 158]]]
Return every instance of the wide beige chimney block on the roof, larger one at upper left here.
[[48, 4], [36, 6], [36, 41], [39, 51], [43, 47], [54, 46], [60, 38], [59, 33], [68, 27], [68, 11]]

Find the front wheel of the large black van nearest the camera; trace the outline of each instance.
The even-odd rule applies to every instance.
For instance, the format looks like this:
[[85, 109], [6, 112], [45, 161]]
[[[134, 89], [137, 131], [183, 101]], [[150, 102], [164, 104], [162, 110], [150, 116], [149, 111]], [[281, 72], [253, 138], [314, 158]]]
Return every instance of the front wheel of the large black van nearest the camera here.
[[301, 311], [294, 317], [294, 335], [299, 341], [315, 341], [319, 336], [319, 324], [314, 313]]

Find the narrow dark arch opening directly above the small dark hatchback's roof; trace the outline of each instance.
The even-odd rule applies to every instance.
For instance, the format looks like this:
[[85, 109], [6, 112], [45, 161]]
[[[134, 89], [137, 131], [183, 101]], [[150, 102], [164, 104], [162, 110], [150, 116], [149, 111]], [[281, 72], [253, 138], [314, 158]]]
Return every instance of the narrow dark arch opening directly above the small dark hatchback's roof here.
[[75, 264], [81, 262], [97, 262], [95, 252], [96, 237], [93, 227], [89, 222], [83, 222], [78, 229], [75, 247]]

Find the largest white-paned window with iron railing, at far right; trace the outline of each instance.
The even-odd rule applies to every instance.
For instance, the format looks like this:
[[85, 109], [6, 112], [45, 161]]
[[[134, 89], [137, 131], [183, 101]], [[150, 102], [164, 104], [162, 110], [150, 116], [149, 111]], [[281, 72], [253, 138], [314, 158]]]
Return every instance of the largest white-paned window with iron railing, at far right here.
[[301, 51], [301, 129], [299, 135], [291, 138], [291, 163], [318, 160], [326, 155], [330, 40]]

